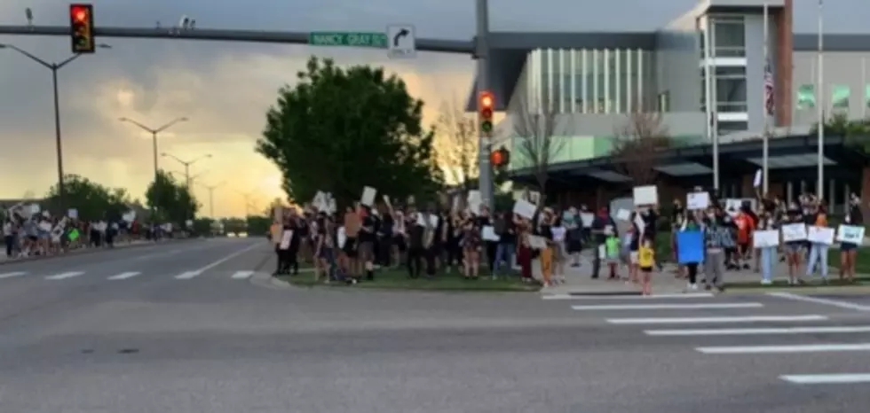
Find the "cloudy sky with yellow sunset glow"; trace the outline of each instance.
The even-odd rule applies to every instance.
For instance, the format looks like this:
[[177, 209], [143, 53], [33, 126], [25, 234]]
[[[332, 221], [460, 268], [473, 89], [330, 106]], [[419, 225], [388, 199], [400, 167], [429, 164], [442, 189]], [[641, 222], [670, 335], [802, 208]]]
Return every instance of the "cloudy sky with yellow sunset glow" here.
[[[383, 31], [390, 24], [412, 24], [418, 38], [470, 39], [471, 0], [93, 0], [96, 25], [163, 27], [182, 15], [201, 28], [280, 31]], [[68, 1], [3, 0], [0, 25], [27, 23], [30, 7], [36, 25], [67, 25]], [[494, 31], [648, 31], [689, 10], [695, 0], [490, 0]], [[815, 30], [816, 4], [795, 0], [795, 31]], [[623, 11], [631, 10], [625, 14]], [[865, 32], [866, 0], [827, 2], [834, 32]], [[305, 45], [207, 43], [99, 38], [110, 50], [79, 58], [59, 71], [64, 171], [99, 183], [125, 187], [142, 198], [153, 176], [149, 134], [127, 117], [157, 128], [175, 118], [190, 119], [163, 133], [159, 152], [182, 160], [206, 154], [191, 166], [196, 183], [222, 184], [214, 191], [218, 216], [245, 213], [245, 199], [258, 209], [283, 198], [281, 175], [254, 152], [265, 112], [277, 90], [293, 82], [312, 54], [335, 58], [343, 66], [385, 66], [399, 74], [415, 97], [427, 103], [433, 122], [445, 102], [464, 103], [474, 66], [465, 55], [419, 53], [390, 60], [385, 51], [312, 48]], [[47, 61], [69, 57], [67, 37], [2, 36]], [[291, 83], [292, 84], [292, 83]], [[0, 51], [0, 199], [44, 194], [58, 171], [51, 112], [51, 72], [10, 50]], [[184, 168], [170, 158], [160, 168]], [[209, 191], [195, 193], [209, 214]]]

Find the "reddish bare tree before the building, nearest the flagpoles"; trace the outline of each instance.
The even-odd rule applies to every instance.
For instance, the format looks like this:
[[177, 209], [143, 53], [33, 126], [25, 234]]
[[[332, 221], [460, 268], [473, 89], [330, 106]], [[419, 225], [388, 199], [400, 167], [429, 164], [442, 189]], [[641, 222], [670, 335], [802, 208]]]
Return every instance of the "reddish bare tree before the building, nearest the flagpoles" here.
[[656, 152], [671, 146], [668, 129], [661, 124], [661, 113], [630, 113], [613, 137], [613, 166], [629, 176], [631, 186], [656, 182]]

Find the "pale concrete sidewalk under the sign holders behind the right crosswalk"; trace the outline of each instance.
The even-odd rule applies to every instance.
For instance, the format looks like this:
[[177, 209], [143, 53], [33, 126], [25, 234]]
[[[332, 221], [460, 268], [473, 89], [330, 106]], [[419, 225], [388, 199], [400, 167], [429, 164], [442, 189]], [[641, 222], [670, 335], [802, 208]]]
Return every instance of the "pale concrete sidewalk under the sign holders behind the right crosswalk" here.
[[[830, 263], [829, 263], [830, 264]], [[729, 270], [725, 272], [725, 284], [761, 284], [761, 273], [755, 272], [754, 262], [750, 263], [751, 269]], [[802, 266], [800, 274], [803, 275], [806, 267]], [[537, 277], [540, 274], [535, 268], [534, 272]], [[785, 262], [777, 262], [773, 269], [774, 280], [787, 279], [788, 267]], [[606, 267], [598, 272], [598, 279], [592, 279], [592, 257], [588, 253], [581, 255], [580, 267], [566, 268], [566, 283], [554, 287], [542, 288], [542, 294], [581, 294], [581, 295], [622, 295], [640, 293], [640, 286], [630, 282], [609, 281], [607, 277], [609, 270]], [[628, 277], [629, 270], [624, 266], [620, 266], [619, 275]], [[859, 277], [862, 275], [858, 275]], [[817, 274], [814, 279], [820, 279]], [[836, 269], [828, 269], [828, 277], [834, 279], [837, 277]], [[805, 278], [808, 281], [811, 278]], [[703, 292], [704, 274], [700, 270], [698, 274], [699, 292]], [[676, 277], [676, 264], [665, 263], [661, 271], [653, 272], [653, 293], [654, 294], [676, 294], [686, 292], [687, 280], [685, 278]]]

